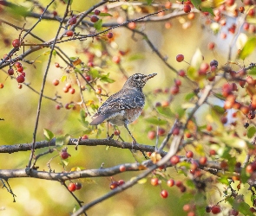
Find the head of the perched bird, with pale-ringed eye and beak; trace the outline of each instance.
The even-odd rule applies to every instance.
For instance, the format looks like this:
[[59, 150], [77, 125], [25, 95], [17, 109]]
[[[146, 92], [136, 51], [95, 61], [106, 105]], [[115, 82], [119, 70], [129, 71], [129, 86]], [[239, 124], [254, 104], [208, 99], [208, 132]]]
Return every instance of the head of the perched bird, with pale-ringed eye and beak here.
[[157, 73], [144, 75], [141, 73], [135, 73], [127, 79], [126, 83], [124, 84], [124, 87], [143, 88], [148, 79], [153, 78], [156, 74]]

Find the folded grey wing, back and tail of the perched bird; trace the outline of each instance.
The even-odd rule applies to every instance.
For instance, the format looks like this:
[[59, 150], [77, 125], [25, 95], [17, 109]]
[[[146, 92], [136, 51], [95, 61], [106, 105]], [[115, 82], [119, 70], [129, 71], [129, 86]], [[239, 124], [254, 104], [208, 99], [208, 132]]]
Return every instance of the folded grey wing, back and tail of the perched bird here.
[[91, 125], [101, 124], [105, 119], [114, 117], [115, 114], [119, 114], [122, 110], [133, 109], [137, 107], [143, 107], [144, 95], [134, 89], [121, 89], [111, 95], [95, 113], [95, 119], [90, 123]]

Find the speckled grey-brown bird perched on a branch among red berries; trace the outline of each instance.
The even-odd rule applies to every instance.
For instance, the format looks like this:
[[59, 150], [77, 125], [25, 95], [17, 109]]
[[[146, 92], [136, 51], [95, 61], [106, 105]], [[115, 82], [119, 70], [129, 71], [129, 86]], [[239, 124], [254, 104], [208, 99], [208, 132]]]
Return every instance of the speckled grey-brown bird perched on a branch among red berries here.
[[[128, 124], [131, 124], [141, 115], [141, 111], [145, 105], [145, 95], [142, 88], [148, 79], [153, 78], [157, 73], [144, 75], [135, 73], [131, 75], [119, 92], [111, 95], [98, 109], [93, 116], [90, 125], [98, 125], [104, 121], [116, 126], [124, 126], [128, 130]], [[107, 124], [108, 125], [108, 124]], [[131, 131], [128, 130], [133, 143], [137, 143]], [[109, 137], [107, 128], [108, 139]]]

